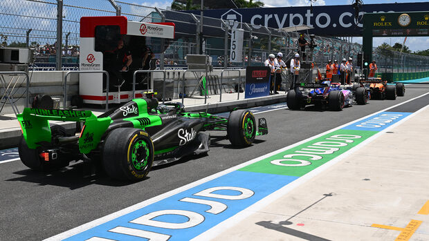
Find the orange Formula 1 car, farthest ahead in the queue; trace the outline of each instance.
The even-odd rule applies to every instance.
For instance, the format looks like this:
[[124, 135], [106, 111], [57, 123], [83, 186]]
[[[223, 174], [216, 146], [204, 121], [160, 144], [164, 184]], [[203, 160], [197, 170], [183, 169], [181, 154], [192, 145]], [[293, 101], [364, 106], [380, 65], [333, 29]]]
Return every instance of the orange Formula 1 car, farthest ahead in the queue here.
[[396, 96], [405, 95], [403, 83], [388, 85], [387, 81], [380, 77], [360, 79], [359, 83], [353, 85], [353, 89], [360, 87], [364, 87], [368, 91], [370, 99], [396, 99]]

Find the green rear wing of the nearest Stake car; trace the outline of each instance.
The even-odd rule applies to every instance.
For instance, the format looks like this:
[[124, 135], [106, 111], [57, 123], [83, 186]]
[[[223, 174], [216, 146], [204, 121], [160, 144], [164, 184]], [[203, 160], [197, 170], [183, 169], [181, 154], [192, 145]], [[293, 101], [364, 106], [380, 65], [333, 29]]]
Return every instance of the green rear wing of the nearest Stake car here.
[[97, 118], [90, 110], [24, 108], [24, 111], [17, 115], [17, 118], [27, 146], [31, 149], [37, 148], [42, 142], [51, 143], [52, 135], [49, 120], [85, 122], [80, 137], [90, 135], [91, 138], [85, 138], [84, 141], [79, 142], [82, 153], [89, 153], [97, 147], [101, 136], [111, 123], [110, 117]]

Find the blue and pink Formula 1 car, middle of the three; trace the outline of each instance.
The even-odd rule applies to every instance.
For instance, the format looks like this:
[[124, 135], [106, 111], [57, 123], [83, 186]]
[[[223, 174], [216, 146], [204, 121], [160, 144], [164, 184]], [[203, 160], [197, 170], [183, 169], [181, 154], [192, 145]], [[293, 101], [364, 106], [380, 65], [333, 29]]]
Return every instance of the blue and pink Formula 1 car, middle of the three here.
[[326, 107], [329, 107], [329, 110], [343, 110], [346, 106], [352, 106], [354, 102], [367, 104], [367, 97], [367, 91], [363, 87], [352, 90], [341, 88], [338, 83], [322, 81], [321, 84], [301, 83], [293, 90], [289, 90], [286, 104], [291, 110], [299, 110], [310, 104], [320, 106], [322, 110]]

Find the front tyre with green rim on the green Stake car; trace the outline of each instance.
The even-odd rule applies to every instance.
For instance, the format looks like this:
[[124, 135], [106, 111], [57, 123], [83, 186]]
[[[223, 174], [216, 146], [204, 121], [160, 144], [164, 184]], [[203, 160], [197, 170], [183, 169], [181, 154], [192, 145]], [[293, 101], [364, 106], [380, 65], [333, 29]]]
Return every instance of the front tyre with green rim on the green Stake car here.
[[233, 146], [250, 146], [256, 136], [255, 117], [249, 110], [232, 111], [226, 133]]

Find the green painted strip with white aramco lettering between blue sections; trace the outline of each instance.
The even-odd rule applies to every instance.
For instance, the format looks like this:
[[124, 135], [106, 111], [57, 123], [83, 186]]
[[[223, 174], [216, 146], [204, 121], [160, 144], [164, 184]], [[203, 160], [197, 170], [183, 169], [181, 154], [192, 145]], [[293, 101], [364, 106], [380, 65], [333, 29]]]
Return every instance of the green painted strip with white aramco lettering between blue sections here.
[[239, 171], [300, 177], [360, 144], [378, 131], [337, 130], [290, 148]]

